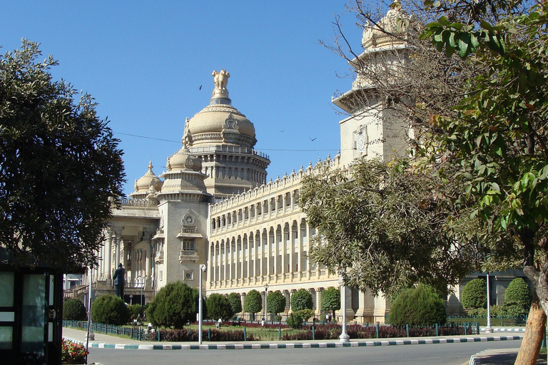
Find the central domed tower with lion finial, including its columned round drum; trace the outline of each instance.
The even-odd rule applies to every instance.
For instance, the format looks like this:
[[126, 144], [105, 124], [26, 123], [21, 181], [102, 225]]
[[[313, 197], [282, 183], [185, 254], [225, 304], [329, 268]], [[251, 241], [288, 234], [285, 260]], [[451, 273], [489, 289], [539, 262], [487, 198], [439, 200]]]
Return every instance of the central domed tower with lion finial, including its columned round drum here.
[[254, 150], [255, 127], [232, 106], [226, 88], [230, 73], [213, 71], [209, 105], [185, 122], [183, 144], [201, 158], [207, 191], [228, 197], [266, 181], [268, 155]]

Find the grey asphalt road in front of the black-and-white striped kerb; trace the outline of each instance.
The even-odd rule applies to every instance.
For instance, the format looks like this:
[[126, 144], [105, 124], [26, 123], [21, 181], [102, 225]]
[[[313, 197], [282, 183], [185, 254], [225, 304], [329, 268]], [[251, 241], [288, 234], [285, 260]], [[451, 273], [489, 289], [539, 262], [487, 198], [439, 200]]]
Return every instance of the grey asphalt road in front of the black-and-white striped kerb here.
[[520, 340], [460, 344], [345, 347], [328, 349], [118, 350], [90, 349], [88, 364], [405, 364], [463, 365], [486, 349], [517, 349]]

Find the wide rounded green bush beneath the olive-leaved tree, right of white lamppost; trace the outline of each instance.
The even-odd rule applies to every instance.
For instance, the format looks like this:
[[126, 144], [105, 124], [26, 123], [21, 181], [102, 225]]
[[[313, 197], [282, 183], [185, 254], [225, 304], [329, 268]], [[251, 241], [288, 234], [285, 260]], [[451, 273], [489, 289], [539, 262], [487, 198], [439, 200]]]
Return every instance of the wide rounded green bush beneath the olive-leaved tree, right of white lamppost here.
[[407, 289], [390, 306], [388, 321], [394, 326], [445, 324], [445, 303], [427, 285]]

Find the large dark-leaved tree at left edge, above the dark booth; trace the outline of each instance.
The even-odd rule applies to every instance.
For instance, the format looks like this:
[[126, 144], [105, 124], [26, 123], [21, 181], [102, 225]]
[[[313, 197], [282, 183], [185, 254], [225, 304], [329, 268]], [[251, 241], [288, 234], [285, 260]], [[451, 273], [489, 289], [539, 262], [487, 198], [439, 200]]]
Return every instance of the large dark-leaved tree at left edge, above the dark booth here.
[[122, 151], [88, 94], [54, 81], [52, 56], [24, 40], [0, 56], [1, 246], [19, 262], [66, 269], [96, 262]]

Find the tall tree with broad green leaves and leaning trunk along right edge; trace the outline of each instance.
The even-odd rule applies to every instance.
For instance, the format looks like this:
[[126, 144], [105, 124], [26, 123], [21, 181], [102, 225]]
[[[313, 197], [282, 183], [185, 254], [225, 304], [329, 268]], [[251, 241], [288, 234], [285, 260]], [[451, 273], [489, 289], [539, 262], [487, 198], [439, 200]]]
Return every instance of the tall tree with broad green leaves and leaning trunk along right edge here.
[[[443, 4], [424, 36], [445, 53], [458, 53], [474, 65], [487, 66], [464, 89], [457, 118], [439, 115], [435, 135], [450, 150], [452, 174], [464, 187], [461, 200], [475, 205], [489, 230], [512, 232], [517, 245], [499, 247], [492, 262], [524, 263], [524, 274], [538, 300], [529, 311], [527, 334], [516, 364], [537, 359], [548, 313], [548, 4], [539, 2], [512, 14], [521, 1], [480, 1], [472, 22], [453, 21]], [[440, 2], [429, 4], [437, 7]], [[496, 21], [488, 11], [509, 9]], [[487, 10], [487, 11], [486, 11]], [[442, 16], [440, 16], [442, 15]], [[454, 149], [453, 149], [454, 148]], [[516, 259], [516, 255], [520, 255]], [[542, 309], [541, 309], [542, 308]], [[544, 312], [544, 314], [542, 314]]]

